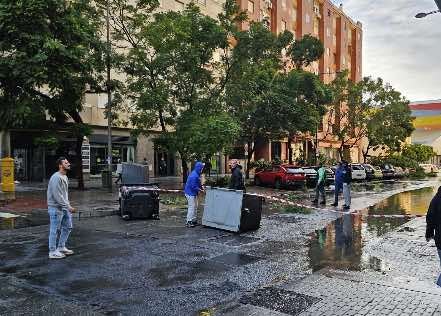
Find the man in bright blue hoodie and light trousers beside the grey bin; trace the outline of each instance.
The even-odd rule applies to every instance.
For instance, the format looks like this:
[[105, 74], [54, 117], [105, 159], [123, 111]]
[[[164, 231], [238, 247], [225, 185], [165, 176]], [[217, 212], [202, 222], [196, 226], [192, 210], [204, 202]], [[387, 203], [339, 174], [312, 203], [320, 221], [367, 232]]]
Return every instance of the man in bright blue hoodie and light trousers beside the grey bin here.
[[204, 169], [204, 164], [197, 161], [193, 171], [187, 178], [185, 183], [185, 197], [188, 201], [187, 211], [187, 227], [194, 227], [197, 225], [197, 207], [198, 207], [198, 193], [204, 191], [201, 183], [201, 174]]

